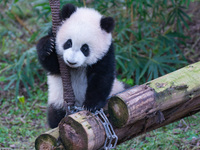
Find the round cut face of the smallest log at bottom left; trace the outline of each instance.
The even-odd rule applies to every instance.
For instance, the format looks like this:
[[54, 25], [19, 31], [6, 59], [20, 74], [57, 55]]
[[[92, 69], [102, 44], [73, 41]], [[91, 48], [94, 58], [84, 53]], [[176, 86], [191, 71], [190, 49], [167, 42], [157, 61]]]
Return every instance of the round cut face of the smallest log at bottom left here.
[[35, 140], [35, 149], [36, 150], [50, 150], [57, 145], [57, 139], [49, 134], [41, 134]]

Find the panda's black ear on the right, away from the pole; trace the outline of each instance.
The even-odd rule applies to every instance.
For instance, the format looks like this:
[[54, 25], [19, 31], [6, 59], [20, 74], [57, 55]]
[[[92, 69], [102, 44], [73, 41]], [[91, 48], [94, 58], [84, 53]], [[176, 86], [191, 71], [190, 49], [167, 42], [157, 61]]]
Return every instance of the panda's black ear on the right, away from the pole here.
[[112, 17], [103, 17], [101, 18], [100, 26], [107, 33], [110, 33], [115, 27], [115, 21]]

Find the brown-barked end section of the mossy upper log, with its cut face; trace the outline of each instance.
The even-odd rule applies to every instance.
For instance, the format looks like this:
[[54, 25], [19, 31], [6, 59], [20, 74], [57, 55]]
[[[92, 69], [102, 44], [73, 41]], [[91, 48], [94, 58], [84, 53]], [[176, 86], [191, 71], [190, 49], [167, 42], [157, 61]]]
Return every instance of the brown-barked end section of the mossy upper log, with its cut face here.
[[108, 102], [108, 113], [116, 127], [142, 119], [154, 105], [154, 91], [146, 85], [133, 87], [117, 94]]

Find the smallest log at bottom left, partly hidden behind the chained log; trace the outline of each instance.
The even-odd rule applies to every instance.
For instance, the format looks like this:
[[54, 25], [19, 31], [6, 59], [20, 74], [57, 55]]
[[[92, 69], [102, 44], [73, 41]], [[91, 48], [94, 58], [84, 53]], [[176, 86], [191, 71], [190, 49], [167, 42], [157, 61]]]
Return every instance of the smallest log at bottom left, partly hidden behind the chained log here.
[[59, 137], [58, 127], [51, 129], [44, 134], [41, 134], [35, 140], [35, 149], [36, 150], [50, 150], [53, 147], [57, 146], [57, 140]]

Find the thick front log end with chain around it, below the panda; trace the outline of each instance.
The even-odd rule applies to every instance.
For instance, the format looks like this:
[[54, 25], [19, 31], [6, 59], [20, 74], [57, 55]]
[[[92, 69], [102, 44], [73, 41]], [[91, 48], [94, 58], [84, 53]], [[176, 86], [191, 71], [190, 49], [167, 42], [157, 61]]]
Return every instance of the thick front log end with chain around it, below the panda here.
[[81, 111], [62, 119], [59, 132], [66, 150], [96, 150], [102, 147], [105, 141], [102, 123], [88, 111]]

